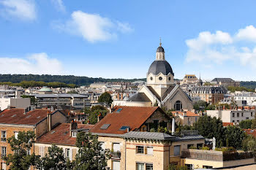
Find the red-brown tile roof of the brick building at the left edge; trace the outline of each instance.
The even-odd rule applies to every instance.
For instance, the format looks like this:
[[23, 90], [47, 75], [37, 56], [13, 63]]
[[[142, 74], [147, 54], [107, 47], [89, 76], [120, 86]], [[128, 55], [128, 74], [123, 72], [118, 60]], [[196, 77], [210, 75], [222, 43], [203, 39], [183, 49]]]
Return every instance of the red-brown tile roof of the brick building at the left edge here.
[[0, 124], [36, 125], [47, 117], [47, 109], [34, 109], [24, 114], [24, 109], [4, 109], [0, 112]]

